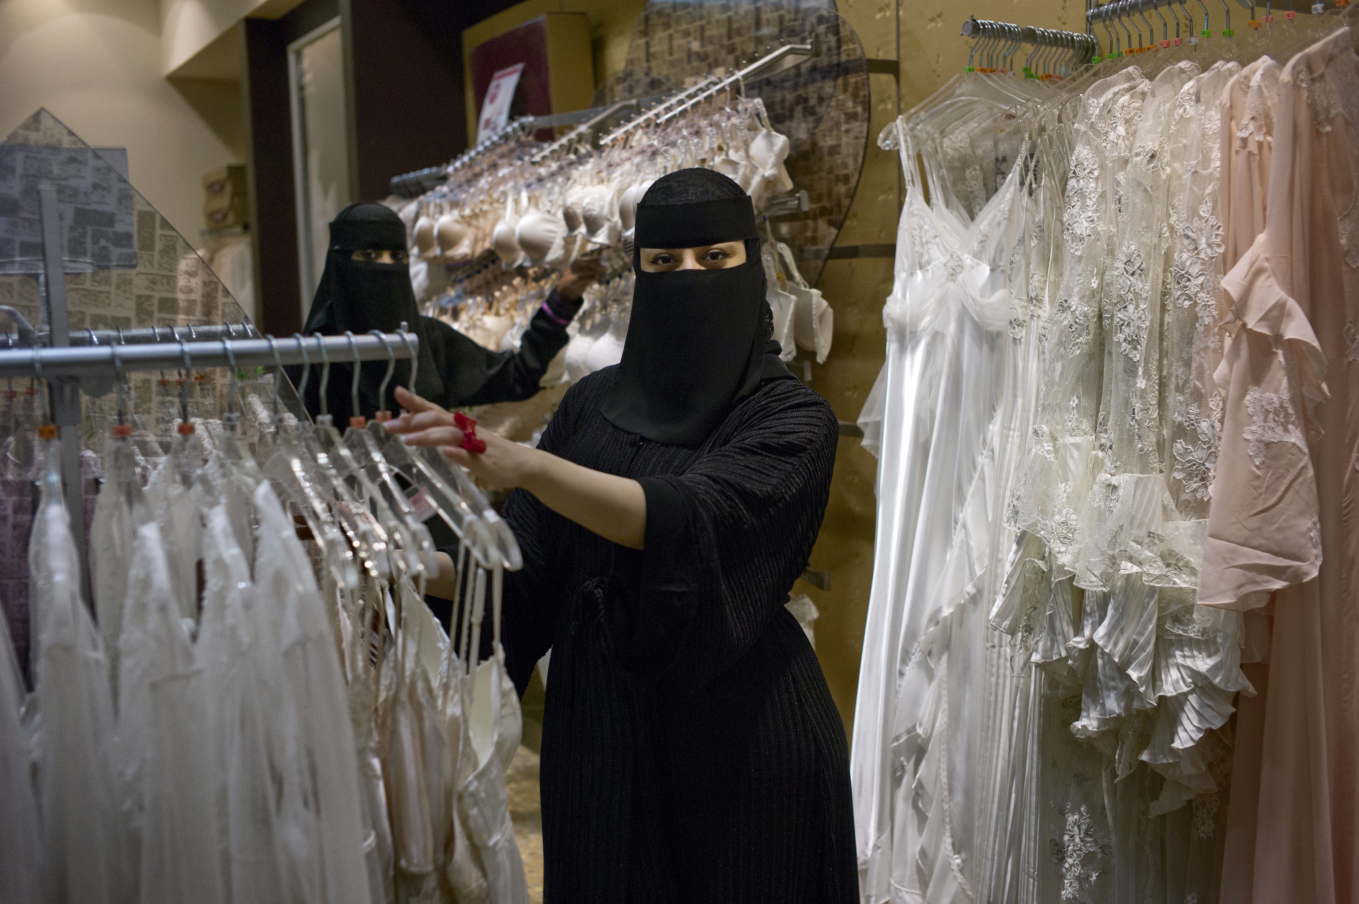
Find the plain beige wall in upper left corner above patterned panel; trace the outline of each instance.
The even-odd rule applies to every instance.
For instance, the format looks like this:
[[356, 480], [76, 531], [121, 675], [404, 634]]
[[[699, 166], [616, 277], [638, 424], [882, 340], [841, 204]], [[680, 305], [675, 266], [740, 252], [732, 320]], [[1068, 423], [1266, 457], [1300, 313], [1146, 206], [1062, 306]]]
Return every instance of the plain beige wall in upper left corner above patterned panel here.
[[163, 77], [156, 0], [4, 0], [0, 38], [0, 135], [46, 107], [128, 148], [132, 184], [201, 245], [202, 174], [245, 159], [241, 92]]

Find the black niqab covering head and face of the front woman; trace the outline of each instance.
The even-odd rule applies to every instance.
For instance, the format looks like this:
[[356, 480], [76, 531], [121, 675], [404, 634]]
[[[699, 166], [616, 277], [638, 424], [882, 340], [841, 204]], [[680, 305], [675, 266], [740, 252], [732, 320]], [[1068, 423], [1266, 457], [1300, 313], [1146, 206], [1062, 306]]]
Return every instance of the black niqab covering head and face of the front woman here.
[[[746, 262], [647, 273], [643, 247], [743, 239]], [[791, 378], [779, 360], [765, 300], [754, 207], [726, 175], [704, 169], [655, 181], [637, 205], [636, 287], [622, 360], [602, 412], [616, 427], [674, 446], [701, 446], [731, 404], [764, 379]]]

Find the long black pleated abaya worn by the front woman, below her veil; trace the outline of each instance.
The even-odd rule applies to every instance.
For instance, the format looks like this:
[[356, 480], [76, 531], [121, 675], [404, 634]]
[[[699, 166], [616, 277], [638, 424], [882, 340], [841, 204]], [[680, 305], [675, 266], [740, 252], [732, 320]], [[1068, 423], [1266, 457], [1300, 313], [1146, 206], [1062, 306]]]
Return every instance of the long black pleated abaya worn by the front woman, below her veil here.
[[522, 489], [504, 511], [525, 559], [503, 628], [520, 693], [552, 650], [545, 900], [858, 901], [844, 725], [784, 608], [825, 512], [836, 417], [768, 379], [700, 447], [662, 445], [601, 415], [617, 370], [567, 393], [540, 449], [636, 479], [646, 549]]

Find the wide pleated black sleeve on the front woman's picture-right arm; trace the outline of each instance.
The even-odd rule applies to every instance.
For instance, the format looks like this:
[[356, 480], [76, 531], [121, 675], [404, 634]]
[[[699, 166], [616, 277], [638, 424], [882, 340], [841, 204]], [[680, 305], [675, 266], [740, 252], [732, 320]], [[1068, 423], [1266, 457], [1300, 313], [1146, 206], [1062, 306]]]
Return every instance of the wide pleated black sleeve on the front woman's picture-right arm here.
[[733, 424], [733, 442], [682, 473], [639, 479], [644, 549], [620, 553], [622, 593], [606, 610], [613, 647], [635, 674], [700, 685], [788, 601], [821, 529], [839, 428], [815, 393], [786, 396], [752, 409]]

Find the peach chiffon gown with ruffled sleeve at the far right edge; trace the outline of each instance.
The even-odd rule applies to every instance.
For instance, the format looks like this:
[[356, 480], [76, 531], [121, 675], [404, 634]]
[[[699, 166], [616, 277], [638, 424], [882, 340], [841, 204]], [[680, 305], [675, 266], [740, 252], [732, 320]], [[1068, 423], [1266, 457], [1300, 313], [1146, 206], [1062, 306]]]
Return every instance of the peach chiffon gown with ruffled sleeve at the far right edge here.
[[[1340, 29], [1283, 68], [1265, 228], [1223, 280], [1226, 416], [1199, 601], [1273, 616], [1268, 665], [1248, 666], [1260, 693], [1241, 699], [1231, 904], [1349, 904], [1359, 889], [1356, 126], [1359, 58]], [[1258, 640], [1243, 659], [1264, 657]]]

